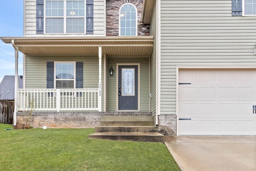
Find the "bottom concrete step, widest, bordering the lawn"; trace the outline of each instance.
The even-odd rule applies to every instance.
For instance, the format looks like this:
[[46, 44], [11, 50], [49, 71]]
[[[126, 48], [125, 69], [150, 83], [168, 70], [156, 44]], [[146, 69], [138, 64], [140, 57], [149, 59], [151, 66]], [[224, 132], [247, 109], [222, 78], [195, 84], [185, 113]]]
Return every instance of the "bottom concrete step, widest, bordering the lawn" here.
[[146, 141], [164, 143], [164, 135], [160, 133], [93, 133], [88, 135], [90, 139], [109, 139], [118, 141]]

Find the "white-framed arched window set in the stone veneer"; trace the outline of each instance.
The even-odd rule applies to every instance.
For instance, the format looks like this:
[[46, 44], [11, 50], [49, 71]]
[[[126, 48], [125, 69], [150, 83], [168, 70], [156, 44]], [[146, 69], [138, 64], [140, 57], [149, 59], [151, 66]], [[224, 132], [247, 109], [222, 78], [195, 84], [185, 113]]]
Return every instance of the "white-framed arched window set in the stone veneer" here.
[[137, 8], [131, 3], [123, 4], [119, 10], [119, 35], [137, 36]]

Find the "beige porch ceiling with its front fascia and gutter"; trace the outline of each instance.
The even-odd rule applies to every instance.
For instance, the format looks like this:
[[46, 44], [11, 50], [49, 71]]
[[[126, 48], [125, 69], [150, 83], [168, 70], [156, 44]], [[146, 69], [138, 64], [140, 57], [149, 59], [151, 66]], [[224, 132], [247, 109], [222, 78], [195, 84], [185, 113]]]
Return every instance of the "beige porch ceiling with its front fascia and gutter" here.
[[23, 54], [102, 54], [107, 56], [150, 56], [153, 36], [104, 37], [1, 37], [12, 43]]

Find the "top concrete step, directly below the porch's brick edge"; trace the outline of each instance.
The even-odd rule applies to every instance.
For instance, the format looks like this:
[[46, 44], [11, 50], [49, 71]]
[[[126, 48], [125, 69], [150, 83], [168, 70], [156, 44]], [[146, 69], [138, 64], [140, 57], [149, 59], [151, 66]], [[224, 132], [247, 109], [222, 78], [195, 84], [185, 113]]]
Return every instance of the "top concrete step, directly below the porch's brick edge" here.
[[101, 121], [154, 121], [153, 116], [102, 116]]

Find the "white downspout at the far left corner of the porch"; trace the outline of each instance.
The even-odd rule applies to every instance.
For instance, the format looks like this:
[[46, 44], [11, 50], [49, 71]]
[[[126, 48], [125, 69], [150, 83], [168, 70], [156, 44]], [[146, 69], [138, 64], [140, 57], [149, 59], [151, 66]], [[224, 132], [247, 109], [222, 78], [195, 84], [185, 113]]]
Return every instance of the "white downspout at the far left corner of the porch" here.
[[13, 112], [13, 125], [16, 126], [17, 124], [17, 99], [18, 99], [18, 57], [19, 57], [19, 50], [14, 44], [14, 40], [12, 40], [12, 46], [15, 50], [15, 82], [14, 82], [14, 112]]

